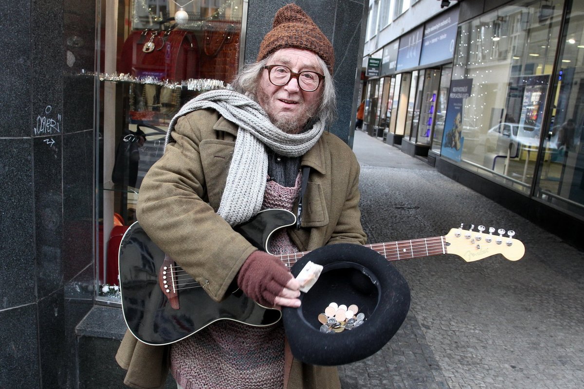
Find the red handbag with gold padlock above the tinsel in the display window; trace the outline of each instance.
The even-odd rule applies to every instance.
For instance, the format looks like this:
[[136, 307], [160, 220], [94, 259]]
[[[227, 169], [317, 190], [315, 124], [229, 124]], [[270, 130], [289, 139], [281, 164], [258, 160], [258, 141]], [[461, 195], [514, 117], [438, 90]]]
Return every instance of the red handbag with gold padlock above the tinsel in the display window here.
[[124, 42], [117, 72], [181, 81], [199, 77], [199, 48], [191, 31], [137, 30]]

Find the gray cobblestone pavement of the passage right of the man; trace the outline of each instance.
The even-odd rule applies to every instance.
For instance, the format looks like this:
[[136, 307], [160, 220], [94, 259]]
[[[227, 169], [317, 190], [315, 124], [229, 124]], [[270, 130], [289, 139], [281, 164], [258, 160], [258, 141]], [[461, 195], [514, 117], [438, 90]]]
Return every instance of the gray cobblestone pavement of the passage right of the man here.
[[526, 253], [393, 262], [411, 309], [381, 351], [339, 367], [342, 388], [584, 388], [583, 253], [364, 132], [353, 149], [370, 243], [473, 223], [515, 230]]

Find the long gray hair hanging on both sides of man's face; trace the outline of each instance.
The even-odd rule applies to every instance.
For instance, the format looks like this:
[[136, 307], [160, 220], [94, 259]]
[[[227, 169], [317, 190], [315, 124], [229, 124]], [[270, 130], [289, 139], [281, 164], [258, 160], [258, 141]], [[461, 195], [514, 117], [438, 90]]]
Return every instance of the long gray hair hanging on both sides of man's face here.
[[[263, 66], [266, 66], [267, 62], [272, 58], [272, 55], [262, 59], [262, 61], [245, 65], [232, 80], [231, 86], [233, 89], [258, 101], [256, 88], [259, 84], [259, 78], [262, 76]], [[318, 55], [317, 60], [318, 64], [321, 66], [322, 73], [325, 76], [324, 89], [322, 91], [321, 103], [317, 111], [317, 116], [320, 117], [326, 125], [331, 125], [336, 119], [335, 83], [331, 73], [326, 67], [325, 61], [323, 61], [321, 57], [318, 57]]]

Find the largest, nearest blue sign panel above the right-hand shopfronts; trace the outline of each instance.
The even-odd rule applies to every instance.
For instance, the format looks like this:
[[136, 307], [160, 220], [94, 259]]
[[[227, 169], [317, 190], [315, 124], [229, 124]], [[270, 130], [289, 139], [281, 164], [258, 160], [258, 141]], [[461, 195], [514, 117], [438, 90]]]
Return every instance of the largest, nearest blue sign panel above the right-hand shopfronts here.
[[454, 57], [458, 25], [458, 10], [441, 13], [426, 23], [422, 39], [420, 66], [435, 64]]

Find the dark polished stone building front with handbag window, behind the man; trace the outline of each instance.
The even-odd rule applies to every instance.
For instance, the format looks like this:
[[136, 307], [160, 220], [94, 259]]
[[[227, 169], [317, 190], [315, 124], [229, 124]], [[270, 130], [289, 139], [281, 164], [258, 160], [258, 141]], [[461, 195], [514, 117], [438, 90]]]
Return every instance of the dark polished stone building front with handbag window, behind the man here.
[[[255, 61], [286, 3], [0, 1], [0, 387], [124, 387], [117, 247], [141, 178], [172, 114]], [[335, 49], [348, 142], [364, 3], [296, 3]]]

